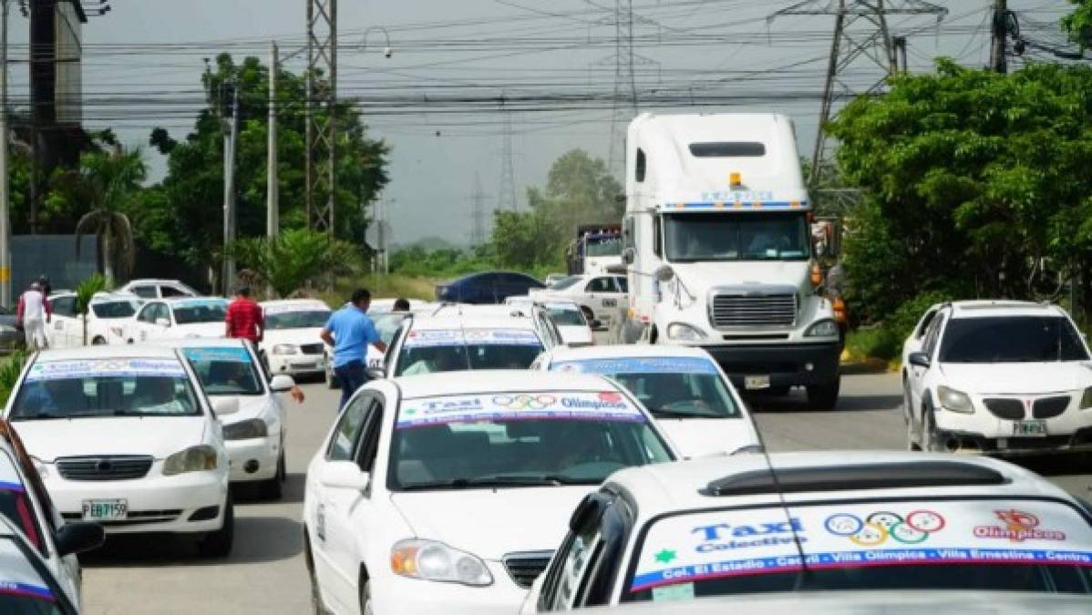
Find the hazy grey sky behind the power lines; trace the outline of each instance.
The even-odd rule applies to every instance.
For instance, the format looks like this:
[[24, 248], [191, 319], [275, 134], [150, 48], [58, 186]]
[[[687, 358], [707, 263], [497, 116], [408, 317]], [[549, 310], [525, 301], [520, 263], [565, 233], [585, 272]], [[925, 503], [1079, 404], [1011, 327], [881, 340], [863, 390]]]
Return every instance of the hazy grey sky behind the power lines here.
[[[794, 4], [773, 0], [632, 0], [636, 17], [634, 69], [639, 96], [670, 93], [685, 105], [702, 93], [767, 97], [709, 111], [775, 110], [793, 116], [800, 149], [810, 154], [832, 17], [784, 17], [769, 13]], [[950, 10], [939, 28], [930, 17], [892, 19], [895, 35], [910, 35], [910, 63], [922, 70], [937, 55], [983, 66], [987, 57], [987, 0], [936, 0]], [[165, 126], [185, 137], [200, 107], [203, 58], [222, 50], [268, 61], [270, 39], [282, 52], [304, 43], [305, 0], [111, 0], [112, 11], [84, 28], [83, 82], [88, 128], [114, 127], [131, 145], [146, 145], [151, 128]], [[826, 4], [819, 0], [817, 4]], [[901, 4], [893, 0], [889, 4]], [[1065, 0], [1010, 0], [1028, 36], [1056, 42], [1055, 22]], [[367, 116], [375, 137], [393, 147], [391, 184], [395, 238], [410, 241], [440, 235], [465, 241], [474, 175], [488, 203], [500, 184], [503, 115], [488, 107], [455, 107], [404, 115], [411, 97], [472, 98], [543, 94], [613, 93], [615, 64], [612, 0], [341, 0], [340, 83], [342, 97], [385, 97]], [[382, 32], [393, 57], [385, 59]], [[371, 29], [369, 29], [371, 28]], [[367, 34], [367, 46], [360, 43]], [[25, 58], [26, 21], [12, 23], [13, 57]], [[22, 43], [23, 45], [19, 45]], [[152, 47], [142, 44], [169, 44]], [[288, 62], [299, 70], [301, 60]], [[880, 72], [859, 64], [855, 86]], [[25, 95], [25, 69], [12, 70], [13, 95]], [[100, 105], [109, 97], [155, 95], [173, 102], [155, 106]], [[391, 100], [390, 98], [393, 98]], [[92, 103], [94, 102], [94, 104]], [[550, 163], [572, 147], [607, 157], [610, 117], [605, 102], [580, 109], [514, 114], [517, 192], [525, 206], [527, 185], [542, 185]], [[452, 110], [463, 113], [451, 113]], [[695, 109], [655, 109], [695, 113]], [[439, 131], [439, 135], [437, 132]], [[149, 162], [162, 176], [164, 159]]]

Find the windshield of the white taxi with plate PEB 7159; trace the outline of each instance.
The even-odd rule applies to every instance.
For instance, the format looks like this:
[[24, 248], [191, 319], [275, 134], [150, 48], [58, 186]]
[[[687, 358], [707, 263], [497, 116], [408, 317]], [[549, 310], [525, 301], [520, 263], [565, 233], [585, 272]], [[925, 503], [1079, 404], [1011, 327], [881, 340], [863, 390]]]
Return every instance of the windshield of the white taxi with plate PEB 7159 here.
[[100, 358], [38, 362], [12, 405], [12, 421], [201, 413], [176, 359]]

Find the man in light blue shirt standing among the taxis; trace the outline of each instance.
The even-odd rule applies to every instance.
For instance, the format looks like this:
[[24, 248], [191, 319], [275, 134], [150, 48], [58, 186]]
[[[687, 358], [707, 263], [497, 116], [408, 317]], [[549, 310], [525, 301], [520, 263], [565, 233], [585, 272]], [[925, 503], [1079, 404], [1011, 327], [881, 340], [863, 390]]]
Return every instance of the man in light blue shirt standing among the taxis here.
[[368, 346], [387, 352], [387, 344], [380, 340], [376, 324], [368, 318], [370, 304], [371, 293], [357, 288], [353, 292], [349, 305], [331, 315], [319, 334], [323, 342], [334, 348], [334, 375], [342, 386], [339, 410], [345, 407], [353, 393], [368, 381], [368, 372], [364, 368]]

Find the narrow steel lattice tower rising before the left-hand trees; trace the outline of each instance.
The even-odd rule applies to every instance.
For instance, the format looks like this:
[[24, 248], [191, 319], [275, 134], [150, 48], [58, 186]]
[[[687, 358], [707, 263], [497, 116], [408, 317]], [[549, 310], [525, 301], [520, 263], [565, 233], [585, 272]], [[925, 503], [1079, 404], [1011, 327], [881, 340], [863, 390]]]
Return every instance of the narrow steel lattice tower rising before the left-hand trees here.
[[307, 224], [334, 232], [337, 0], [307, 1]]

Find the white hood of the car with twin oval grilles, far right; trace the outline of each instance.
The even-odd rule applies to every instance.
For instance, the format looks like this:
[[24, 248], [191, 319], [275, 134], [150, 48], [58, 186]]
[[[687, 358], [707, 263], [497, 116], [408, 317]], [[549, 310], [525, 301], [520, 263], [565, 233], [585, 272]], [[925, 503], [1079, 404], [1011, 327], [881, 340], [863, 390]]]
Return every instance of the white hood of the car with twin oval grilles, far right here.
[[1092, 386], [1092, 363], [942, 363], [943, 383], [965, 393], [1040, 394]]

